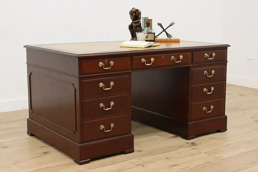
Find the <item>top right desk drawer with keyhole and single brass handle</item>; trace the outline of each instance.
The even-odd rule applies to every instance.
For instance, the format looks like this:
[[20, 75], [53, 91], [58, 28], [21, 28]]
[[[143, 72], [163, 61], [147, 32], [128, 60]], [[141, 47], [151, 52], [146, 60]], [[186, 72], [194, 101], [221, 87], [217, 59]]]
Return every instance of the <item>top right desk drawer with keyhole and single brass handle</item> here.
[[226, 50], [207, 50], [193, 52], [193, 64], [226, 61]]

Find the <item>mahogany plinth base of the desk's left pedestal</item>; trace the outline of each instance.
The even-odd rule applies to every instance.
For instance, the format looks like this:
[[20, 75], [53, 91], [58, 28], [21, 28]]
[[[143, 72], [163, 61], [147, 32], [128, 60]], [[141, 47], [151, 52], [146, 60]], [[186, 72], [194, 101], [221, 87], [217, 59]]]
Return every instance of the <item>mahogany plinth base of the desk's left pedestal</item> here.
[[67, 155], [73, 157], [74, 161], [79, 165], [89, 163], [91, 159], [97, 157], [116, 153], [128, 154], [134, 152], [133, 134], [78, 144], [53, 130], [46, 128], [45, 126], [42, 126], [30, 118], [27, 119], [27, 128], [27, 133], [30, 136], [35, 135]]

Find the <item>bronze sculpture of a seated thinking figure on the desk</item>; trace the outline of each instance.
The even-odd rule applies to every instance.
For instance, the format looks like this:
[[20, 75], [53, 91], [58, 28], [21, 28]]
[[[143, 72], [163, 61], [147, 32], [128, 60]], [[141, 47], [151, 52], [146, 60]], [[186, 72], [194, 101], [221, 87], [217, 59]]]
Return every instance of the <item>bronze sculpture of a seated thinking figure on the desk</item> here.
[[137, 41], [136, 32], [142, 31], [141, 11], [139, 9], [132, 8], [129, 11], [129, 15], [132, 20], [131, 24], [128, 26], [131, 33], [131, 40]]

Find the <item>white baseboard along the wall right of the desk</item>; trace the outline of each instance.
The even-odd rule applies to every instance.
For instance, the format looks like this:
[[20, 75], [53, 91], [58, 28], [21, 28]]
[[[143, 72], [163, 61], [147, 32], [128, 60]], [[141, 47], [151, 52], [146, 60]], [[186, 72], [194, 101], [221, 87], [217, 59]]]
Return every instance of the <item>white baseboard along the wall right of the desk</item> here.
[[258, 80], [227, 75], [227, 84], [258, 89]]

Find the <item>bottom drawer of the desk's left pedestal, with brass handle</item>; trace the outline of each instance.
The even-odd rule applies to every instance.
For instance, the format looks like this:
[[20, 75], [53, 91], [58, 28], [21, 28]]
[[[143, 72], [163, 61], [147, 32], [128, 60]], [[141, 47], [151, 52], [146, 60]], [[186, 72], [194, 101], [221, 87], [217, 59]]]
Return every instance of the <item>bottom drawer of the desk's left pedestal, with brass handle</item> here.
[[130, 133], [131, 116], [129, 114], [83, 122], [84, 142]]

